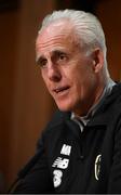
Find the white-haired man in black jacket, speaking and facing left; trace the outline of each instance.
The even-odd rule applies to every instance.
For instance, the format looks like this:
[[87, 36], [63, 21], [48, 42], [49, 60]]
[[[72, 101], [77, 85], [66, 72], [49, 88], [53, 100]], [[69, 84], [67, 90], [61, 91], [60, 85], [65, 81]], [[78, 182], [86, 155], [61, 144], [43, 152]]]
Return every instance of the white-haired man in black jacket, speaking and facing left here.
[[55, 11], [36, 51], [58, 112], [14, 193], [121, 193], [121, 84], [110, 79], [100, 23], [83, 11]]

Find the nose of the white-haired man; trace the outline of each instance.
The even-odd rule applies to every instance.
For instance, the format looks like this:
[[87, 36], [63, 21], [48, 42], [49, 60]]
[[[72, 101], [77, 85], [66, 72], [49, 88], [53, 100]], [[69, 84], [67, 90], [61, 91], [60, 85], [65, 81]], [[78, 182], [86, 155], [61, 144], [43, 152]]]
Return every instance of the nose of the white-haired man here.
[[55, 82], [58, 82], [62, 79], [60, 70], [56, 64], [51, 63], [48, 66], [48, 78]]

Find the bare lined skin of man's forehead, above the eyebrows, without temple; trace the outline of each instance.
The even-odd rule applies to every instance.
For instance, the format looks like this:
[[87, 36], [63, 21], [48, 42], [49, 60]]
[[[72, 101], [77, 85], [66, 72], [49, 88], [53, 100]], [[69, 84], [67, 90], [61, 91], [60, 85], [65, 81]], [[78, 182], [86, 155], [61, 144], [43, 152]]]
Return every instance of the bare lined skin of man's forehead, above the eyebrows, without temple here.
[[50, 24], [38, 34], [36, 41], [37, 52], [44, 49], [51, 49], [51, 47], [62, 47], [75, 42], [72, 26], [68, 21], [60, 21]]

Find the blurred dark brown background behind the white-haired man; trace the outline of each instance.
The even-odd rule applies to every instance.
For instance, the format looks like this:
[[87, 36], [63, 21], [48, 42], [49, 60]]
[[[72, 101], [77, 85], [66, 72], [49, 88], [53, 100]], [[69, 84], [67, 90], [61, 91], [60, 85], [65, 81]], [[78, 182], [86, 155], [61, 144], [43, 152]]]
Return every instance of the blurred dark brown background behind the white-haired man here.
[[0, 192], [35, 153], [55, 105], [35, 63], [35, 41], [45, 14], [92, 12], [100, 20], [111, 77], [121, 78], [121, 0], [0, 0]]

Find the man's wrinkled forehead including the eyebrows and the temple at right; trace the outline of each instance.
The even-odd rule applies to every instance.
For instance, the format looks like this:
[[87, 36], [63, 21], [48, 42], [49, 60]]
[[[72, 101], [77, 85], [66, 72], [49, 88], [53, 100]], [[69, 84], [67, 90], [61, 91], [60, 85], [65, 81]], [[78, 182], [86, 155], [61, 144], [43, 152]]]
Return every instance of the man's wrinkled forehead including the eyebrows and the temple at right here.
[[80, 49], [72, 25], [67, 21], [50, 24], [43, 28], [36, 41], [37, 60], [50, 55], [53, 51], [72, 52]]

